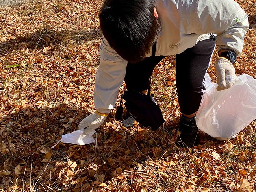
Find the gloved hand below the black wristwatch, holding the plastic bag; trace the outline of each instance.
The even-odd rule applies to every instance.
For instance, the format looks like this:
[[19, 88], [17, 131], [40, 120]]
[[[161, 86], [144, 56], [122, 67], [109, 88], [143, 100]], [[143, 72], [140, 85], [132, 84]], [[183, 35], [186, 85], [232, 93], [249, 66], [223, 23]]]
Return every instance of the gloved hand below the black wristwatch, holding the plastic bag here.
[[236, 76], [235, 68], [228, 59], [219, 57], [216, 60], [215, 71], [217, 74], [217, 90], [228, 89], [234, 84], [234, 79], [231, 76]]

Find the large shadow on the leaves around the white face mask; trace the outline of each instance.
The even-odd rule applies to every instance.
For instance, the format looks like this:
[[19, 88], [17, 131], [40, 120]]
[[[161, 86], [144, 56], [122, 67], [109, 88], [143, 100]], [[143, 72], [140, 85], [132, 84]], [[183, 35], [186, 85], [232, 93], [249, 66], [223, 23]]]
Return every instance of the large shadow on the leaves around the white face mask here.
[[0, 188], [46, 190], [47, 185], [56, 191], [96, 191], [121, 172], [132, 173], [139, 163], [173, 152], [165, 150], [171, 146], [169, 138], [148, 129], [132, 133], [111, 123], [98, 130], [97, 149], [94, 144], [63, 143], [50, 149], [62, 134], [75, 131], [88, 114], [65, 104], [39, 109], [17, 106], [0, 119]]

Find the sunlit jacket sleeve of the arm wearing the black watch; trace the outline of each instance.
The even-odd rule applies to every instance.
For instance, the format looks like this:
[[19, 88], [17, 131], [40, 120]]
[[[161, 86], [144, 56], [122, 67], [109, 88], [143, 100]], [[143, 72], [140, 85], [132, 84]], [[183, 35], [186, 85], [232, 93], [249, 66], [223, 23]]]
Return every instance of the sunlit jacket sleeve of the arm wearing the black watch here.
[[198, 0], [195, 33], [217, 34], [219, 50], [232, 49], [241, 55], [243, 39], [249, 28], [248, 15], [233, 0]]

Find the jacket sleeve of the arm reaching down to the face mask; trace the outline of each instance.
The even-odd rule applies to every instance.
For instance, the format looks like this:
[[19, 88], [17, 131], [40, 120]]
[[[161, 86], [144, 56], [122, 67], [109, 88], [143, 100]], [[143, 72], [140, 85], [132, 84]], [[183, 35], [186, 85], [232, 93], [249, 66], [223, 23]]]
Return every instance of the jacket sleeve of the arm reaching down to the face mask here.
[[94, 90], [94, 105], [100, 113], [109, 113], [114, 108], [119, 88], [124, 81], [127, 61], [111, 48], [102, 36], [100, 66]]

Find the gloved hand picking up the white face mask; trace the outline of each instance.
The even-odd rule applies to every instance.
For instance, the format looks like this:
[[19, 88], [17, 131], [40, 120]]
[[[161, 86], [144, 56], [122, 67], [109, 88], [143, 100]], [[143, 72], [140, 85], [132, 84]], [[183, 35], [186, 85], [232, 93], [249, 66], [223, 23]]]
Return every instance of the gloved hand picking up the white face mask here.
[[90, 133], [101, 126], [101, 124], [103, 124], [103, 122], [106, 120], [107, 116], [108, 114], [102, 114], [95, 111], [95, 113], [90, 114], [80, 122], [78, 129], [85, 129], [84, 135], [86, 135], [86, 133]]

